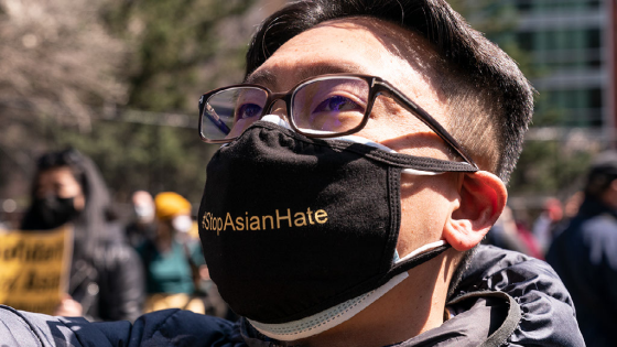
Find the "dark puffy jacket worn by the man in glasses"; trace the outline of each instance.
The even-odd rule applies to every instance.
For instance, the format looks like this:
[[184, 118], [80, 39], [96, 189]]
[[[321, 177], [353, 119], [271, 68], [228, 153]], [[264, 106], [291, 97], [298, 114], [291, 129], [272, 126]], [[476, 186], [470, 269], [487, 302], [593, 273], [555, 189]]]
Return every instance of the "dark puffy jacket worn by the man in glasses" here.
[[[480, 246], [448, 304], [453, 317], [397, 346], [584, 346], [570, 295], [545, 262]], [[167, 310], [128, 322], [88, 323], [0, 307], [0, 346], [264, 347], [246, 321], [234, 324]]]

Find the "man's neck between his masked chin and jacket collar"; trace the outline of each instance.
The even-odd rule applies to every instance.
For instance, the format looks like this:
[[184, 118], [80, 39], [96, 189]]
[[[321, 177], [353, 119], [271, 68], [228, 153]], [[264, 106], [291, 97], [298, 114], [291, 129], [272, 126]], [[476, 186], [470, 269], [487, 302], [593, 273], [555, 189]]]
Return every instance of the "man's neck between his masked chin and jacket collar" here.
[[451, 273], [444, 256], [409, 271], [409, 278], [349, 321], [289, 346], [380, 347], [443, 324]]

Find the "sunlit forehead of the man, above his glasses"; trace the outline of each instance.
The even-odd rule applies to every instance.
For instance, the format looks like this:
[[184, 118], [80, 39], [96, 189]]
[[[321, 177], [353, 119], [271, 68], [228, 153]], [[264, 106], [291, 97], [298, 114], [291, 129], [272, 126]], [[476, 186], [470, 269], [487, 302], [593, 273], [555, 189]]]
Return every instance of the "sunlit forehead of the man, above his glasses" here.
[[377, 19], [347, 18], [292, 37], [247, 82], [281, 91], [313, 76], [355, 73], [382, 77], [412, 97], [427, 89], [436, 95], [429, 64], [434, 57], [431, 45], [412, 31]]

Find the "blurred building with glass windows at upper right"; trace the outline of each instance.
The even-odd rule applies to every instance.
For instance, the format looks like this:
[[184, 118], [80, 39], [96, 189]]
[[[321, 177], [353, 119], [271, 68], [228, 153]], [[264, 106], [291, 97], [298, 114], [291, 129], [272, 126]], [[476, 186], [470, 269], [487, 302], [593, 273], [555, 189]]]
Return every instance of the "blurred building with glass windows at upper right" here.
[[[548, 126], [615, 129], [615, 0], [510, 0]], [[552, 115], [552, 116], [551, 116]]]

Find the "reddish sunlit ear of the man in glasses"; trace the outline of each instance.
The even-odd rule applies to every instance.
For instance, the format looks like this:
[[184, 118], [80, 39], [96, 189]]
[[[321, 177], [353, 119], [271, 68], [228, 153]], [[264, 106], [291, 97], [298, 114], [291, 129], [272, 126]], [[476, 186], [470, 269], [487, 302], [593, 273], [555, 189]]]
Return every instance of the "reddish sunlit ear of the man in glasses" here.
[[444, 238], [457, 251], [478, 245], [506, 206], [508, 192], [496, 175], [478, 171], [463, 174], [459, 206], [444, 227]]

